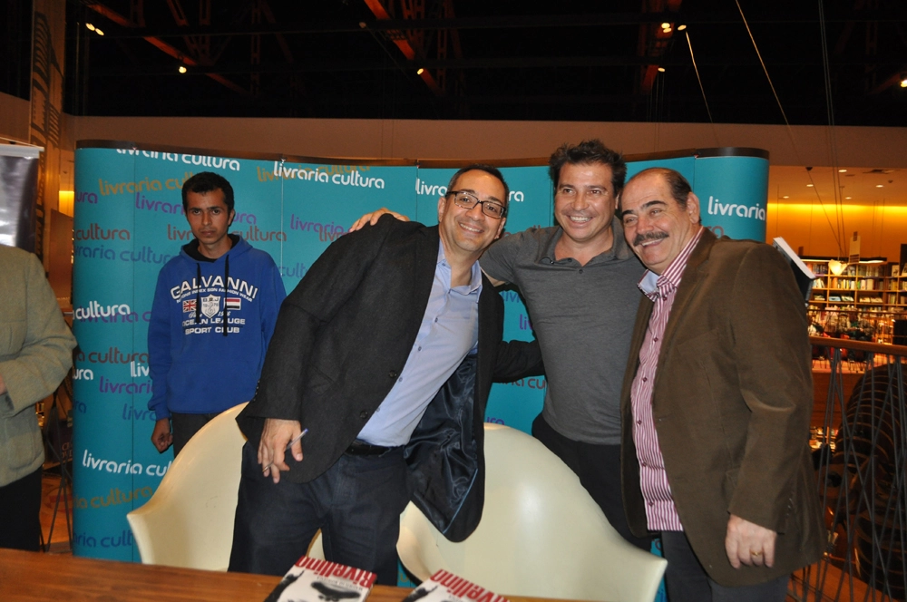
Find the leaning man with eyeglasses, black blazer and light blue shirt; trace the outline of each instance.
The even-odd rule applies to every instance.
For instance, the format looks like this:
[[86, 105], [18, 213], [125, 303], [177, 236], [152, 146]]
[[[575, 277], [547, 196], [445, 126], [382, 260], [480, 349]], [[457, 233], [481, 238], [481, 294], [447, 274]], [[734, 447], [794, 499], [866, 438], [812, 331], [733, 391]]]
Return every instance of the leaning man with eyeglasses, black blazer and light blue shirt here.
[[501, 173], [471, 165], [448, 190], [437, 227], [383, 218], [339, 238], [281, 307], [238, 418], [230, 570], [282, 575], [321, 529], [328, 560], [395, 585], [410, 500], [448, 539], [478, 525], [492, 381], [541, 374], [541, 353], [502, 342], [478, 265], [506, 221]]

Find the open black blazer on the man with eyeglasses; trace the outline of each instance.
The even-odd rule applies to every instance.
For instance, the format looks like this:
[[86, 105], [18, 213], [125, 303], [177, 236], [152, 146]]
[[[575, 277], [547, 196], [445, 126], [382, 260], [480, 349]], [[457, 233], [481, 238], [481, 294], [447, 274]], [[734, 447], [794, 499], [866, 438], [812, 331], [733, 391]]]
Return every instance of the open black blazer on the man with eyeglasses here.
[[[308, 429], [291, 482], [317, 478], [340, 457], [394, 386], [434, 282], [438, 228], [390, 216], [338, 238], [280, 308], [255, 398], [239, 427], [258, 446], [265, 418]], [[492, 381], [541, 374], [538, 344], [502, 343], [503, 302], [483, 277], [478, 354], [429, 404], [405, 455], [413, 500], [453, 540], [482, 516], [483, 422]]]

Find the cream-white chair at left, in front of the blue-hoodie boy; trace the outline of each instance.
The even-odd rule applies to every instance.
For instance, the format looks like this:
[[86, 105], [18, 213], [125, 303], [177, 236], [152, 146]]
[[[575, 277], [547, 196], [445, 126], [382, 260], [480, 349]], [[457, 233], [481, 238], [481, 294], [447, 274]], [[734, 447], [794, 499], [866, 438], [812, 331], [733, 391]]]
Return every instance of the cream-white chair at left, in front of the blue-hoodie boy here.
[[227, 570], [242, 446], [242, 403], [192, 437], [151, 500], [126, 515], [142, 564]]

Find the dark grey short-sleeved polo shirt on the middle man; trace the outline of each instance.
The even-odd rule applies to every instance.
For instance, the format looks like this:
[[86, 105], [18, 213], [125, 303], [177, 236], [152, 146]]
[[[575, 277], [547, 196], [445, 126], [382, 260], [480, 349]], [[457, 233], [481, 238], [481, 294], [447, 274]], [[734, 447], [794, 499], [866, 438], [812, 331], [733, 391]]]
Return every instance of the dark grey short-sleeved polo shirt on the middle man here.
[[504, 237], [480, 260], [486, 274], [518, 286], [526, 300], [548, 378], [545, 422], [573, 441], [599, 445], [620, 442], [620, 384], [645, 272], [618, 219], [611, 225], [614, 245], [585, 266], [555, 260], [560, 226]]

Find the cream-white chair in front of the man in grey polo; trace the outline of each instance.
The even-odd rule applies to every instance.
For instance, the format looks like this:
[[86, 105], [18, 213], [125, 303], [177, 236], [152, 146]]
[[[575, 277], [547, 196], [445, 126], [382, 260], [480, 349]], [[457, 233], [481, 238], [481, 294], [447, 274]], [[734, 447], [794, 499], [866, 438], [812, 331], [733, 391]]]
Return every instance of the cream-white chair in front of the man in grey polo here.
[[412, 503], [397, 552], [419, 579], [439, 568], [503, 596], [651, 602], [668, 563], [621, 538], [580, 480], [531, 436], [485, 425], [485, 505], [448, 541]]

